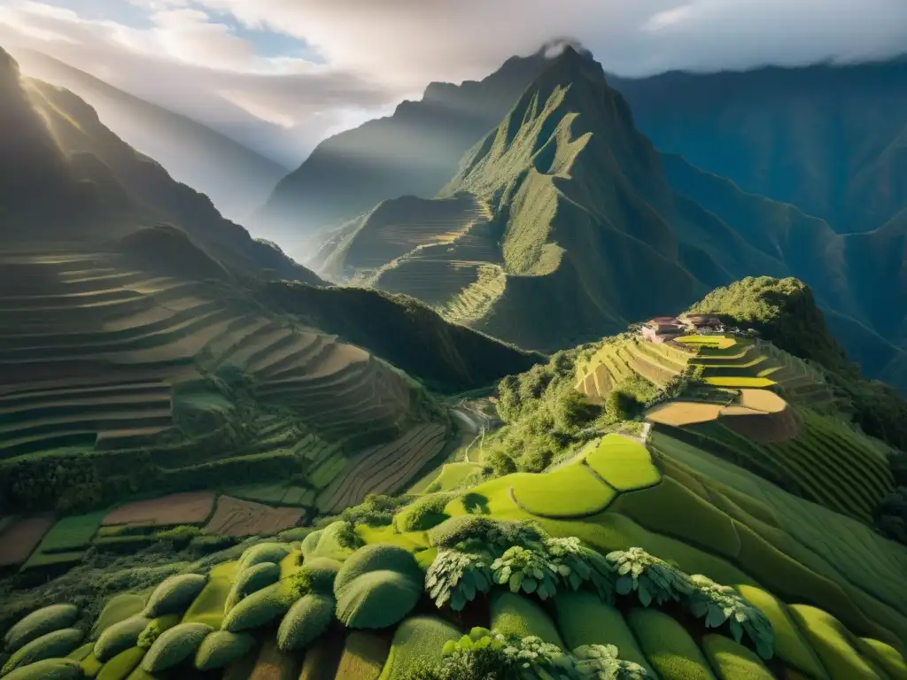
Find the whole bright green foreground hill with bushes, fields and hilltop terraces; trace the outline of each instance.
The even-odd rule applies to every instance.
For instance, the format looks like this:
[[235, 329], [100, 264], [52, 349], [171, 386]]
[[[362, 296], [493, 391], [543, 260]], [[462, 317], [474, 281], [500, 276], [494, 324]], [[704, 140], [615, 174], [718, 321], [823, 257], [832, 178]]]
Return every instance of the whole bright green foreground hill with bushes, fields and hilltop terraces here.
[[[821, 320], [787, 295], [790, 306], [754, 322], [766, 336], [802, 324], [797, 305]], [[700, 306], [717, 299], [729, 297], [719, 290]], [[14, 582], [0, 617], [5, 670], [902, 677], [907, 544], [875, 528], [897, 471], [891, 450], [850, 422], [828, 375], [752, 334], [653, 345], [630, 331], [558, 353], [502, 381], [503, 428], [421, 491], [202, 557], [202, 541], [229, 530], [225, 504], [239, 502], [219, 496], [203, 533], [160, 532], [156, 550], [87, 561], [33, 588]], [[375, 477], [396, 468], [378, 461]], [[331, 499], [359, 484], [334, 485]], [[196, 506], [180, 507], [200, 516]], [[112, 536], [134, 546], [139, 530], [155, 539], [117, 523], [135, 509], [106, 512], [54, 525], [44, 560], [97, 554]]]

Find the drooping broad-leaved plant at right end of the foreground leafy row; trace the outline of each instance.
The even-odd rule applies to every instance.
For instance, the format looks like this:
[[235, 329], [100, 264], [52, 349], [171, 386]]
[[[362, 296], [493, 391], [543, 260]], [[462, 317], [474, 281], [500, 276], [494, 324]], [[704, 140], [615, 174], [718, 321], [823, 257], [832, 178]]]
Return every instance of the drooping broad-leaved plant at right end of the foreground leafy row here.
[[689, 612], [705, 618], [706, 627], [717, 628], [727, 622], [737, 642], [744, 633], [764, 659], [775, 654], [775, 631], [765, 614], [741, 597], [734, 588], [720, 586], [715, 581], [695, 574], [689, 577], [690, 592], [686, 597]]

